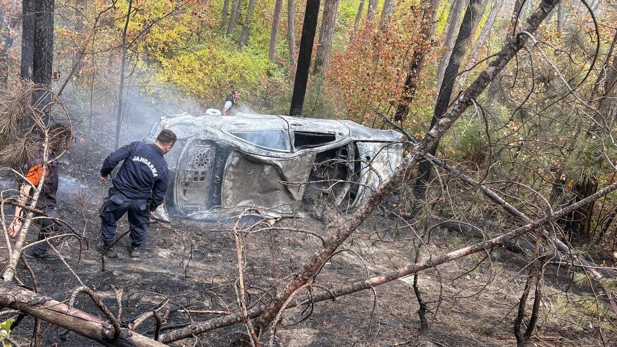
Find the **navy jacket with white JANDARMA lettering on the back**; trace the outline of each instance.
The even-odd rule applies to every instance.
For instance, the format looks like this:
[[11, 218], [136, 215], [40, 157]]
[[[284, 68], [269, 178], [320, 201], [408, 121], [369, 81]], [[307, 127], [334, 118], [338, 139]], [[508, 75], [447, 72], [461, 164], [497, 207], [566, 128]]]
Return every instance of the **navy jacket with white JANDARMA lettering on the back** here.
[[163, 203], [167, 190], [167, 162], [163, 151], [155, 144], [131, 142], [105, 158], [101, 175], [111, 174], [120, 161], [124, 164], [112, 180], [114, 188], [131, 199], [152, 197], [150, 211], [154, 211]]

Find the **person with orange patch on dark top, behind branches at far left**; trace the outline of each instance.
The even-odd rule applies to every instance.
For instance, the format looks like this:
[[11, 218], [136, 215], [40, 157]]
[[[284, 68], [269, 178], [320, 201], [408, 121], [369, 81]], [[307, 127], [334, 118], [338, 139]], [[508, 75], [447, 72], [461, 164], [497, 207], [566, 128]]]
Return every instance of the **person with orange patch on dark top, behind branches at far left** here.
[[[22, 205], [27, 205], [28, 200], [32, 198], [32, 186], [38, 186], [41, 179], [43, 179], [43, 186], [41, 188], [41, 193], [39, 193], [38, 201], [36, 202], [36, 209], [46, 212], [56, 219], [59, 217], [55, 211], [57, 203], [56, 193], [58, 191], [58, 162], [53, 159], [68, 148], [72, 138], [71, 129], [67, 124], [56, 123], [49, 127], [47, 158], [44, 156], [45, 148], [42, 144], [28, 159], [24, 167], [26, 172], [25, 177], [29, 183], [23, 182], [23, 184], [20, 185], [19, 202]], [[47, 162], [47, 168], [45, 176], [43, 177], [43, 165], [45, 162]], [[10, 223], [9, 228], [7, 228], [9, 236], [15, 237], [20, 233], [22, 230], [23, 217], [25, 215], [26, 213], [22, 207], [15, 206], [15, 218]], [[58, 254], [49, 249], [48, 237], [54, 234], [71, 233], [70, 228], [38, 214], [35, 214], [34, 217], [33, 223], [39, 228], [38, 241], [42, 242], [25, 249], [25, 251], [23, 251], [23, 257], [28, 260], [39, 259], [44, 261], [59, 259]], [[57, 246], [60, 241], [55, 238], [51, 240], [51, 243]]]

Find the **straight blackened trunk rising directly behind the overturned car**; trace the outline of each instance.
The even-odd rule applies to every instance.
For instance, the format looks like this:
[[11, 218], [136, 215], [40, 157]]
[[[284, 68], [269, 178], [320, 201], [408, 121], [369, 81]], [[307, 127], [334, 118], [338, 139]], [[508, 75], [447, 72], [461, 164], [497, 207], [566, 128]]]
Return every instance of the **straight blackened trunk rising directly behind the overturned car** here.
[[313, 54], [315, 31], [317, 30], [317, 17], [319, 15], [319, 1], [307, 0], [304, 10], [304, 23], [302, 24], [302, 38], [300, 38], [300, 51], [298, 53], [298, 66], [294, 79], [294, 94], [291, 96], [289, 115], [300, 117], [304, 105], [304, 94], [309, 81], [310, 58]]

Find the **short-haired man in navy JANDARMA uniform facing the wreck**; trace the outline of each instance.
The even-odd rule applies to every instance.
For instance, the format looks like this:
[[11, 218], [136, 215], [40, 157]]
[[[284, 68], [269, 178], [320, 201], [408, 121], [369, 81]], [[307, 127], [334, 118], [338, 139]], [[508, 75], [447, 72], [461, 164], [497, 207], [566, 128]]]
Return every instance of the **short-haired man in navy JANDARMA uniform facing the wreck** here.
[[131, 227], [131, 257], [139, 257], [139, 247], [146, 241], [149, 216], [163, 203], [167, 190], [167, 162], [163, 154], [176, 143], [171, 130], [162, 130], [153, 144], [131, 142], [109, 154], [101, 167], [101, 179], [107, 176], [120, 161], [124, 161], [112, 180], [114, 186], [101, 207], [101, 241], [96, 250], [110, 258], [117, 257], [115, 247], [116, 222], [128, 212]]

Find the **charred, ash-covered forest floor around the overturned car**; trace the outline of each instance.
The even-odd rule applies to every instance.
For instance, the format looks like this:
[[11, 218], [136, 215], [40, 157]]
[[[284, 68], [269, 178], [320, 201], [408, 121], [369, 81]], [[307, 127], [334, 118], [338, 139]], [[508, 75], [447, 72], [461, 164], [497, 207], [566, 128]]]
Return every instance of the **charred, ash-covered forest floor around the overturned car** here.
[[[109, 141], [105, 141], [107, 143]], [[89, 286], [109, 309], [117, 314], [118, 303], [112, 288], [123, 290], [122, 320], [128, 322], [152, 309], [165, 299], [172, 310], [164, 328], [193, 321], [219, 317], [225, 312], [238, 312], [236, 285], [238, 261], [233, 222], [196, 222], [174, 219], [171, 223], [152, 224], [148, 240], [139, 259], [131, 259], [126, 247], [128, 237], [116, 246], [119, 256], [106, 259], [94, 251], [99, 234], [97, 210], [107, 187], [98, 180], [98, 169], [111, 146], [95, 153], [78, 144], [63, 159], [58, 210], [72, 224], [79, 238], [65, 241], [61, 248], [67, 264], [31, 262], [38, 290], [59, 301], [67, 301], [70, 293]], [[87, 159], [86, 159], [87, 158]], [[392, 202], [394, 201], [394, 202]], [[395, 199], [384, 204], [360, 230], [340, 249], [317, 275], [316, 283], [334, 287], [383, 274], [413, 262], [414, 251], [409, 240], [413, 232], [405, 228], [408, 220], [389, 214]], [[264, 230], [265, 224], [252, 227], [255, 220], [244, 220], [242, 229], [242, 262], [249, 305], [267, 301], [294, 270], [301, 267], [321, 246], [321, 240], [339, 225], [343, 218], [328, 207], [325, 200], [307, 201], [305, 217], [275, 222], [280, 230]], [[128, 230], [126, 217], [118, 224], [118, 236]], [[400, 230], [395, 233], [392, 230]], [[307, 232], [310, 233], [307, 233]], [[402, 236], [401, 236], [402, 235]], [[35, 238], [31, 233], [30, 238]], [[431, 236], [423, 250], [423, 259], [459, 248], [460, 238], [443, 231]], [[6, 251], [3, 251], [6, 252]], [[422, 272], [418, 284], [429, 307], [429, 328], [420, 332], [413, 293], [412, 277], [402, 278], [375, 291], [362, 291], [306, 307], [286, 311], [278, 328], [275, 345], [280, 346], [513, 346], [512, 333], [518, 299], [528, 272], [527, 262], [520, 256], [495, 250], [491, 256], [470, 256]], [[484, 259], [481, 265], [476, 261]], [[615, 335], [610, 324], [615, 319], [596, 314], [589, 304], [590, 291], [571, 283], [565, 270], [547, 267], [546, 285], [542, 292], [542, 315], [532, 338], [536, 346], [613, 345]], [[27, 269], [20, 265], [17, 277], [33, 286]], [[569, 290], [568, 293], [565, 290]], [[586, 299], [587, 298], [587, 299]], [[591, 307], [590, 307], [591, 306]], [[91, 299], [78, 296], [75, 307], [102, 316]], [[182, 310], [222, 311], [189, 316]], [[528, 305], [528, 312], [531, 304]], [[603, 311], [604, 312], [604, 311]], [[25, 318], [11, 336], [22, 346], [30, 343], [33, 322]], [[598, 324], [603, 325], [602, 333]], [[608, 327], [608, 328], [607, 328]], [[136, 330], [154, 336], [153, 320]], [[166, 330], [168, 331], [168, 330]], [[166, 332], [164, 331], [164, 332]], [[229, 346], [238, 341], [246, 328], [242, 324], [221, 328], [198, 338], [172, 343], [173, 346]], [[96, 346], [97, 343], [42, 322], [41, 346]]]

